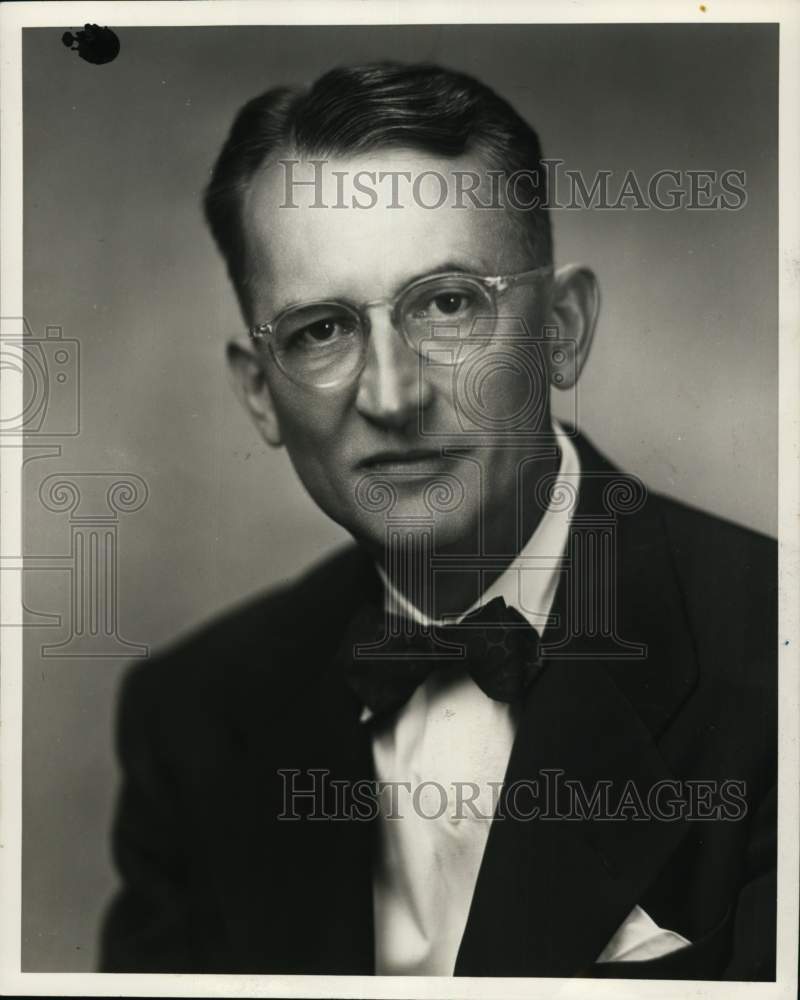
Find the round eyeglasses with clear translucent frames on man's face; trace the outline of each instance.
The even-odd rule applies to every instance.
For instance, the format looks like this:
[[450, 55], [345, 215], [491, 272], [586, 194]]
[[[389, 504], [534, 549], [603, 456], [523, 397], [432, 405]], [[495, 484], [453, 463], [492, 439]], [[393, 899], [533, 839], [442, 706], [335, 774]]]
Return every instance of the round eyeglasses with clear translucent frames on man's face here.
[[[364, 368], [371, 326], [367, 310], [387, 306], [394, 328], [424, 357], [436, 337], [446, 337], [448, 344], [476, 336], [485, 341], [496, 329], [498, 297], [551, 273], [548, 266], [494, 276], [432, 274], [412, 281], [394, 299], [373, 299], [361, 306], [338, 299], [289, 306], [248, 332], [256, 343], [269, 345], [276, 364], [292, 381], [333, 388], [352, 381]], [[449, 356], [451, 364], [460, 360], [458, 351]]]

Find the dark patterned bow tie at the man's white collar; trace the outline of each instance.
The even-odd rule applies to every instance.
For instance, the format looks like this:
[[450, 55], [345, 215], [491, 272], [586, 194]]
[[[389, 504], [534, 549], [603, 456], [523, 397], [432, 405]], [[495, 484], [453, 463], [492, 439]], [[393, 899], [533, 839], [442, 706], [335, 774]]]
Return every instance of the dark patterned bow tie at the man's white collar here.
[[402, 707], [434, 670], [466, 668], [484, 694], [512, 702], [541, 669], [536, 630], [502, 597], [441, 626], [368, 605], [351, 623], [341, 656], [348, 684], [374, 716]]

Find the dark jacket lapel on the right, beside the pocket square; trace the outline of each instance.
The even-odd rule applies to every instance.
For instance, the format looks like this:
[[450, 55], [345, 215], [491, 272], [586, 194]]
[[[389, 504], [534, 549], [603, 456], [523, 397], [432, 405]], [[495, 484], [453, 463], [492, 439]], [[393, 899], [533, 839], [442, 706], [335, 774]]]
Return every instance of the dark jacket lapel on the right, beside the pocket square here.
[[[593, 519], [606, 524], [609, 477], [623, 478], [585, 441], [578, 446], [583, 472], [572, 542]], [[576, 788], [591, 815], [592, 794], [603, 794], [604, 782], [611, 783], [612, 809], [628, 782], [646, 806], [650, 789], [673, 777], [656, 738], [696, 680], [657, 500], [618, 518], [615, 549], [617, 563], [606, 579], [617, 587], [616, 635], [596, 622], [594, 631], [571, 634], [575, 581], [565, 566], [554, 605], [557, 622], [543, 637], [549, 655], [522, 708], [456, 975], [585, 970], [687, 832], [682, 820], [631, 818], [635, 800], [628, 818], [556, 818], [570, 809], [575, 815]], [[637, 657], [642, 646], [645, 655]], [[520, 816], [534, 800], [523, 783], [531, 780], [539, 783], [535, 804], [542, 811], [525, 820]], [[575, 783], [571, 794], [566, 782]]]

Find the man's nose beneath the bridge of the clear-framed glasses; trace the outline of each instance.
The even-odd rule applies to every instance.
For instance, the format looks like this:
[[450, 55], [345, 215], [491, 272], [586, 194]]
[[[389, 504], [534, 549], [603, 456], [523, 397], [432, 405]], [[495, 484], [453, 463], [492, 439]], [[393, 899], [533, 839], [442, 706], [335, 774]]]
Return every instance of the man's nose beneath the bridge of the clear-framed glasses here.
[[394, 327], [389, 310], [374, 306], [369, 315], [367, 360], [359, 377], [356, 409], [387, 429], [410, 429], [430, 405], [432, 388], [420, 356]]

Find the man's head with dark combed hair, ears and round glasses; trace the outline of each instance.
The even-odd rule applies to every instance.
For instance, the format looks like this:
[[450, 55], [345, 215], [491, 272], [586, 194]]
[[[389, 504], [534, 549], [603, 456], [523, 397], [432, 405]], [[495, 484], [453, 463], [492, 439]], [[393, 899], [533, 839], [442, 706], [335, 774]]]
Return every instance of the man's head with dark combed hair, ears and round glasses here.
[[[452, 491], [442, 546], [471, 546], [481, 519], [516, 523], [549, 386], [569, 387], [586, 356], [596, 286], [548, 270], [540, 159], [489, 88], [391, 64], [267, 92], [219, 157], [206, 215], [261, 334], [229, 345], [240, 394], [320, 507], [376, 551], [378, 476], [395, 516], [426, 513], [433, 480]], [[451, 284], [417, 293], [442, 272]]]

